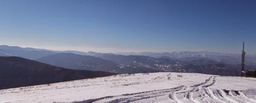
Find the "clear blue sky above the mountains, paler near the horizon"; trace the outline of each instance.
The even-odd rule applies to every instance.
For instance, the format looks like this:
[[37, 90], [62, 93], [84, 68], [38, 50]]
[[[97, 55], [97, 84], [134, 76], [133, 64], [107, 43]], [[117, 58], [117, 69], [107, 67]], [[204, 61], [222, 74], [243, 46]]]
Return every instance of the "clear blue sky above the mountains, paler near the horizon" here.
[[1, 0], [0, 44], [104, 53], [256, 53], [256, 1]]

